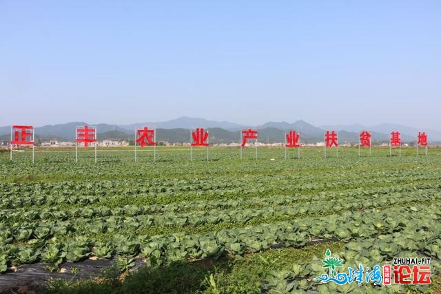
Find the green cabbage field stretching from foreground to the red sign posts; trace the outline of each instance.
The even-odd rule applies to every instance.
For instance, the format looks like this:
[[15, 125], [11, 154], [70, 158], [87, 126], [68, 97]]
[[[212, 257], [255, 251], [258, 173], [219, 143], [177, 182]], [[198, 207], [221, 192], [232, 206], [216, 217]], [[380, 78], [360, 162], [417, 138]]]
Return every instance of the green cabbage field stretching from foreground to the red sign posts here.
[[[112, 260], [41, 293], [440, 293], [441, 149], [212, 147], [0, 152], [0, 280], [16, 266]], [[423, 153], [423, 152], [422, 152]], [[314, 281], [431, 258], [429, 286]], [[145, 266], [130, 271], [137, 261]], [[67, 269], [75, 274], [74, 266]], [[120, 275], [122, 273], [122, 275]], [[75, 275], [74, 275], [75, 277]]]

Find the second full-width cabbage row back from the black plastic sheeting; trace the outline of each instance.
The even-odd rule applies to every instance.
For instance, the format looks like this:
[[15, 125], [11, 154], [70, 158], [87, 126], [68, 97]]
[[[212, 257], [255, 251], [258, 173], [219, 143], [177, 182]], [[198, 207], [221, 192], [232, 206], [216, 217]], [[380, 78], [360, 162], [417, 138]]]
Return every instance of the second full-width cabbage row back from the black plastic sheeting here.
[[[17, 222], [11, 226], [1, 227], [0, 242], [2, 244], [19, 243], [24, 246], [23, 242], [38, 240], [43, 242], [55, 237], [63, 237], [65, 235], [76, 235], [81, 232], [83, 235], [97, 235], [103, 233], [124, 233], [143, 234], [148, 229], [158, 227], [163, 229], [172, 227], [174, 230], [183, 230], [186, 226], [190, 229], [201, 227], [203, 225], [216, 224], [246, 224], [247, 222], [276, 222], [280, 220], [293, 220], [305, 216], [326, 215], [329, 213], [345, 213], [345, 211], [365, 210], [372, 208], [384, 208], [391, 205], [405, 205], [416, 202], [418, 203], [439, 202], [441, 193], [438, 191], [427, 191], [427, 193], [414, 192], [392, 193], [388, 198], [384, 196], [371, 196], [368, 199], [361, 199], [360, 202], [347, 202], [346, 200], [336, 200], [329, 210], [323, 207], [322, 203], [316, 202], [314, 205], [302, 204], [295, 207], [278, 206], [266, 207], [264, 209], [229, 209], [225, 211], [213, 210], [209, 212], [194, 212], [185, 214], [164, 214], [158, 216], [139, 215], [139, 216], [110, 216], [104, 218], [78, 218], [70, 221], [57, 222]], [[320, 227], [316, 228], [320, 230]], [[321, 236], [320, 231], [313, 229], [314, 236]], [[152, 230], [156, 231], [156, 230]], [[338, 237], [342, 237], [339, 235]], [[43, 244], [42, 243], [42, 244]], [[33, 244], [31, 242], [31, 244]], [[34, 246], [34, 245], [32, 245]]]

